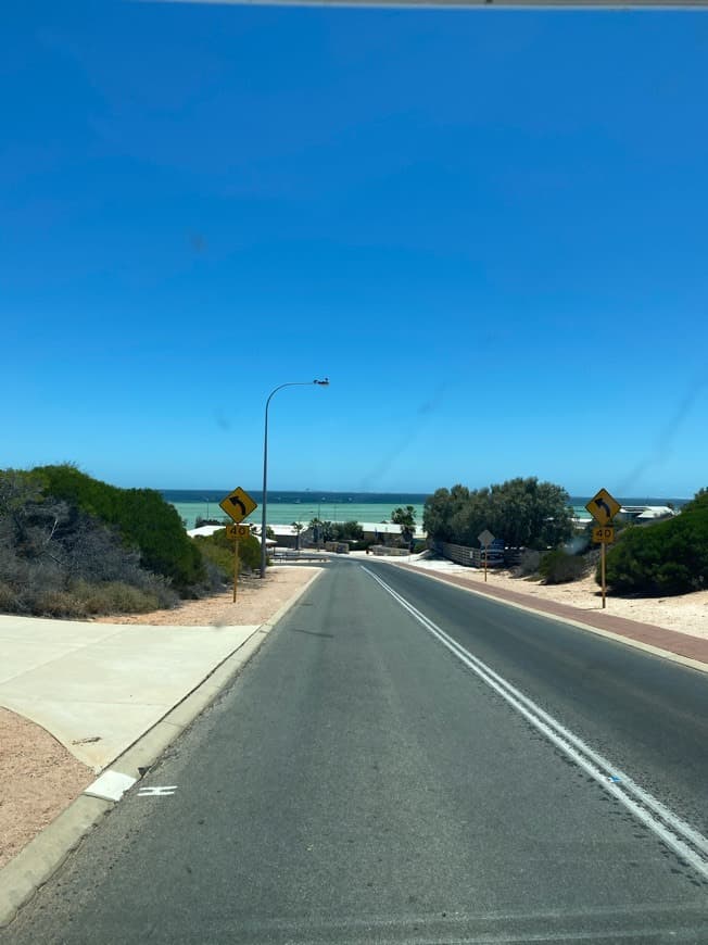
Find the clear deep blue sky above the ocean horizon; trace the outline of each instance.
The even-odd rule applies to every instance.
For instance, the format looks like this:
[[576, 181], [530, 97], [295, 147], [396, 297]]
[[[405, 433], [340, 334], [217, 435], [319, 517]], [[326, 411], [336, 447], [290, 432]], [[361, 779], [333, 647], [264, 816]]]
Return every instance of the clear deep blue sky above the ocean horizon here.
[[708, 14], [10, 5], [0, 466], [708, 484]]

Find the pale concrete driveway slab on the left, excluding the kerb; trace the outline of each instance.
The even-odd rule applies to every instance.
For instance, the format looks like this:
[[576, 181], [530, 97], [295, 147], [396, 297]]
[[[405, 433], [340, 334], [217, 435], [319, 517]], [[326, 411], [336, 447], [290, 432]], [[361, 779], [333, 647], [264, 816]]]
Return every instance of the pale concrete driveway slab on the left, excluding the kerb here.
[[0, 616], [0, 705], [99, 772], [257, 629]]

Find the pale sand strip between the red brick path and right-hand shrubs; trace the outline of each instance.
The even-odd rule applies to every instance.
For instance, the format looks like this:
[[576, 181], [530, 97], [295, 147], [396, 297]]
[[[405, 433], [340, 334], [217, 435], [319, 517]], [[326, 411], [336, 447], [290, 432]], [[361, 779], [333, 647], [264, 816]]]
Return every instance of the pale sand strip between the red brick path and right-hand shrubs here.
[[[405, 558], [403, 559], [406, 560]], [[410, 564], [426, 570], [454, 574], [468, 580], [470, 584], [484, 582], [484, 572], [476, 568], [465, 568], [452, 562], [440, 559], [416, 559], [413, 555]], [[505, 588], [520, 594], [528, 594], [536, 600], [557, 601], [578, 607], [581, 610], [600, 610], [602, 600], [599, 588], [591, 575], [580, 581], [569, 584], [542, 584], [523, 578], [514, 578], [508, 571], [488, 572], [491, 588]], [[675, 597], [607, 597], [607, 613], [617, 617], [627, 617], [641, 623], [654, 623], [679, 633], [708, 639], [708, 591], [696, 591], [693, 594], [680, 594]]]

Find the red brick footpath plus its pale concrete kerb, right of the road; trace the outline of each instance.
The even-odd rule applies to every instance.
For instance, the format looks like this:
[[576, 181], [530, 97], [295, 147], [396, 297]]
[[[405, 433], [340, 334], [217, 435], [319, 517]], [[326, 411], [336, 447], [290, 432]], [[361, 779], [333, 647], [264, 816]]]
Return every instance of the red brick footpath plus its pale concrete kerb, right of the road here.
[[546, 614], [549, 617], [557, 617], [573, 626], [583, 627], [586, 630], [611, 637], [624, 643], [639, 646], [642, 650], [656, 653], [659, 656], [670, 657], [679, 663], [693, 666], [695, 669], [708, 671], [708, 640], [704, 638], [692, 637], [688, 633], [679, 633], [675, 630], [656, 627], [653, 623], [641, 623], [627, 617], [617, 617], [609, 610], [583, 610], [569, 604], [531, 597], [529, 594], [519, 591], [511, 591], [507, 588], [494, 588], [479, 581], [470, 581], [455, 574], [431, 571], [415, 564], [394, 562], [390, 558], [379, 558], [378, 560], [384, 560], [394, 567], [415, 571], [418, 575], [426, 575], [429, 578], [443, 581], [447, 584], [454, 584], [457, 588], [464, 588], [466, 591], [471, 591], [475, 594], [494, 597], [515, 607]]

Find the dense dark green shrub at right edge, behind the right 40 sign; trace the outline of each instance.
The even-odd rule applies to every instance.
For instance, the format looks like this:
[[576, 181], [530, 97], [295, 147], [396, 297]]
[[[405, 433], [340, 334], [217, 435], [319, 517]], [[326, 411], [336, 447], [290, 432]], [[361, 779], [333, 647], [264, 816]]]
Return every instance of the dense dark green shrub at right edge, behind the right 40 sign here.
[[698, 493], [675, 518], [625, 529], [607, 554], [607, 583], [647, 596], [708, 587], [708, 493]]

